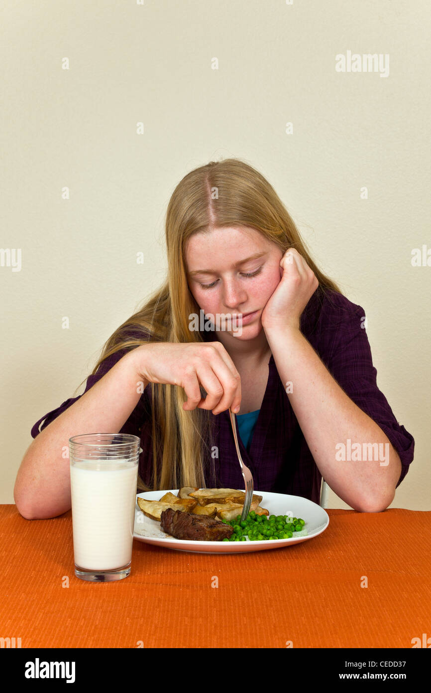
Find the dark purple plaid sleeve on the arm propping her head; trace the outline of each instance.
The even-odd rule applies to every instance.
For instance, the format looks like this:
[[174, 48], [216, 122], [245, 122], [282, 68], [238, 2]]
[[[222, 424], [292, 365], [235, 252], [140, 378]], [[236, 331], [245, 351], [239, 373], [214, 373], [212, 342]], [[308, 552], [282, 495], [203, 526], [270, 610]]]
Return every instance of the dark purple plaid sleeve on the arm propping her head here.
[[396, 486], [399, 486], [413, 459], [414, 439], [398, 423], [385, 395], [378, 389], [377, 371], [363, 326], [364, 309], [345, 301], [345, 307], [329, 325], [333, 338], [327, 367], [349, 398], [383, 430], [398, 453], [401, 475]]

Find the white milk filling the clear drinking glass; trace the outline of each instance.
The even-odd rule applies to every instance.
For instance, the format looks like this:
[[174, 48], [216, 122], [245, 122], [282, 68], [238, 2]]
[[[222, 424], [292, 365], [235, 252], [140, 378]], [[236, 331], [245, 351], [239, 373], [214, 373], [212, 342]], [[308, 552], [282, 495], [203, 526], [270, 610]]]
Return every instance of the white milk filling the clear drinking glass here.
[[138, 465], [124, 459], [71, 465], [73, 552], [80, 568], [113, 570], [131, 560], [137, 475]]

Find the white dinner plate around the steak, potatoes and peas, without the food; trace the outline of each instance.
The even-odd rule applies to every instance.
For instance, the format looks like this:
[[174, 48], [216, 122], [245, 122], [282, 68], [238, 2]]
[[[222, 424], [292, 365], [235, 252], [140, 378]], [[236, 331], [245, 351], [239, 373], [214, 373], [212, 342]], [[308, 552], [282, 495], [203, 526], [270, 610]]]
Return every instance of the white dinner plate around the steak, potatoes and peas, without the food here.
[[[239, 491], [244, 489], [239, 489]], [[146, 491], [138, 493], [136, 498], [147, 500], [160, 500], [167, 491]], [[171, 493], [178, 494], [178, 489], [171, 489]], [[295, 518], [305, 520], [302, 532], [294, 532], [291, 539], [272, 539], [262, 541], [196, 541], [190, 539], [176, 539], [163, 532], [158, 520], [152, 520], [143, 514], [136, 502], [134, 538], [145, 541], [147, 544], [156, 544], [176, 551], [193, 551], [198, 554], [241, 554], [248, 551], [264, 551], [276, 549], [282, 546], [299, 544], [301, 541], [312, 539], [322, 534], [329, 525], [329, 516], [320, 505], [312, 500], [302, 498], [300, 495], [284, 495], [284, 493], [269, 493], [269, 491], [254, 491], [262, 495], [259, 505], [266, 508], [270, 515], [288, 515], [289, 511]]]

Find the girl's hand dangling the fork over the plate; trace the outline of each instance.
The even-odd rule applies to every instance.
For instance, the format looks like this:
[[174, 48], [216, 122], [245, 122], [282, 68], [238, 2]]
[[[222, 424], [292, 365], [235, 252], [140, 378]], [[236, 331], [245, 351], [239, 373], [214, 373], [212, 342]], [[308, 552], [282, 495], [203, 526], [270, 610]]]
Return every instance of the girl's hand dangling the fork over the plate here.
[[[141, 378], [149, 383], [180, 385], [187, 401], [184, 410], [212, 410], [220, 414], [241, 404], [241, 377], [221, 342], [148, 342], [131, 352]], [[199, 386], [207, 393], [204, 399]]]

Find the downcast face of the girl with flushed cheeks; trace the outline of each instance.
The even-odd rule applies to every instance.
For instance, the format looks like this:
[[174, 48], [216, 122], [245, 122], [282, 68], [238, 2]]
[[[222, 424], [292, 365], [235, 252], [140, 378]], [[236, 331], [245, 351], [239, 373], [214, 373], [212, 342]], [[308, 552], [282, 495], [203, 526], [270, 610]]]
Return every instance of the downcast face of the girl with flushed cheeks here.
[[[261, 256], [242, 262], [255, 254]], [[279, 247], [255, 229], [222, 228], [194, 234], [185, 248], [190, 292], [199, 308], [214, 317], [257, 311], [243, 324], [244, 337], [251, 339], [261, 331], [260, 316], [282, 277], [282, 256]], [[211, 272], [192, 274], [197, 270]]]

